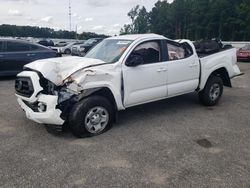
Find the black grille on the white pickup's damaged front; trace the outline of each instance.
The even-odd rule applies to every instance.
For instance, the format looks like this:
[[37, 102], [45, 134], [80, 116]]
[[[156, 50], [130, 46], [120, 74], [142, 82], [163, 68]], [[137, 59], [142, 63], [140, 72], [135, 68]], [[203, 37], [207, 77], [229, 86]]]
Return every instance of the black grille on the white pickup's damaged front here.
[[18, 95], [31, 97], [34, 93], [33, 83], [28, 77], [18, 77], [15, 82], [15, 89]]

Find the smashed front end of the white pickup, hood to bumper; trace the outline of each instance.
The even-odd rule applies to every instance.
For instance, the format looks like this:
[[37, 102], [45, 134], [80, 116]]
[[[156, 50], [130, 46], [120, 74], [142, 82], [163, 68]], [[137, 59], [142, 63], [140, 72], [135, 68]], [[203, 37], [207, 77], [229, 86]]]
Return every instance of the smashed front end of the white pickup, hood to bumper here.
[[66, 60], [37, 61], [17, 75], [16, 96], [28, 119], [62, 127], [77, 102], [105, 86], [100, 82], [110, 80], [110, 68], [103, 69], [103, 61], [74, 59], [73, 66]]

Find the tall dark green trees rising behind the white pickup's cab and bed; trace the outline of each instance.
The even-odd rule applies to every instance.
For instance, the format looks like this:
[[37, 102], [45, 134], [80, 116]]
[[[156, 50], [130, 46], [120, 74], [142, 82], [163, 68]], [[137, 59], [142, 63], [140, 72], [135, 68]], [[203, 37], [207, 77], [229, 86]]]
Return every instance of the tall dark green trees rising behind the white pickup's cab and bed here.
[[250, 40], [250, 0], [166, 0], [147, 12], [137, 5], [120, 34], [157, 33], [191, 40]]

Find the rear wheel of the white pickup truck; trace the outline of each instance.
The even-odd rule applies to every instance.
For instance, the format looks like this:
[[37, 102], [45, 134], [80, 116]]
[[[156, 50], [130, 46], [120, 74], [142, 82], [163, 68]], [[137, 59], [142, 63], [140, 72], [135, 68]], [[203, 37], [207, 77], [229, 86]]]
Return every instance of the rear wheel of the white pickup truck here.
[[223, 94], [223, 81], [218, 76], [210, 76], [205, 88], [199, 93], [199, 99], [205, 106], [216, 105]]

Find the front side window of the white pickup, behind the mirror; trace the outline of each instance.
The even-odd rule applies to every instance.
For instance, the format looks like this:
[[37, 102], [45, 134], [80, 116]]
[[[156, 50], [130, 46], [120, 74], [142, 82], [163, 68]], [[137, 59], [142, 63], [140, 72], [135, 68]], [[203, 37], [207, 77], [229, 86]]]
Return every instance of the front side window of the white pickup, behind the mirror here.
[[138, 45], [130, 54], [128, 61], [138, 58], [142, 64], [161, 62], [161, 48], [159, 41], [149, 41]]

